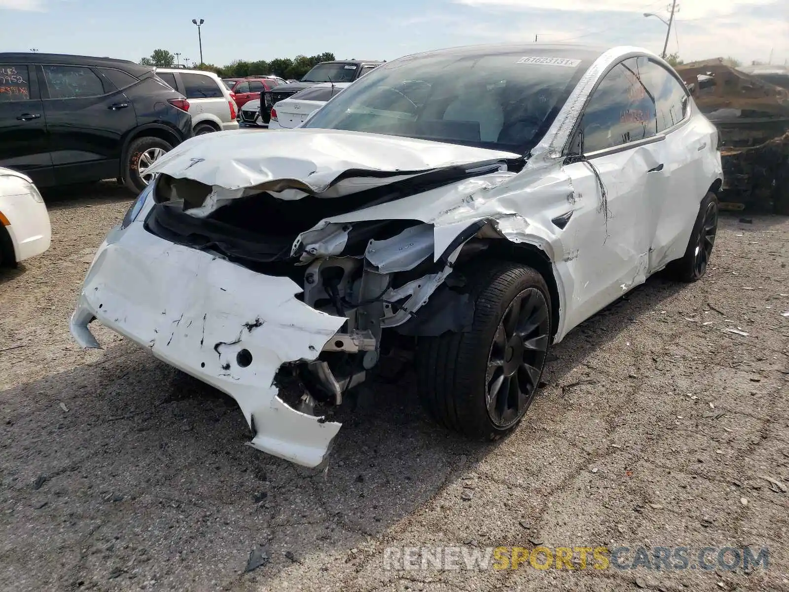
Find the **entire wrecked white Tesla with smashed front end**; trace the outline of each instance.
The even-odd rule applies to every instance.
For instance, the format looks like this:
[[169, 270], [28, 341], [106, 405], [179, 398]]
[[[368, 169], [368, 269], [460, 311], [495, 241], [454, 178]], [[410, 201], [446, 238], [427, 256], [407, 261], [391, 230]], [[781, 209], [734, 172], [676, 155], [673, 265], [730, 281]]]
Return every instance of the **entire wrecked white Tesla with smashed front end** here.
[[327, 455], [346, 391], [413, 351], [469, 437], [513, 429], [548, 348], [716, 234], [716, 129], [635, 47], [465, 47], [380, 66], [300, 129], [211, 133], [152, 170], [84, 281], [92, 320], [232, 396], [252, 445]]

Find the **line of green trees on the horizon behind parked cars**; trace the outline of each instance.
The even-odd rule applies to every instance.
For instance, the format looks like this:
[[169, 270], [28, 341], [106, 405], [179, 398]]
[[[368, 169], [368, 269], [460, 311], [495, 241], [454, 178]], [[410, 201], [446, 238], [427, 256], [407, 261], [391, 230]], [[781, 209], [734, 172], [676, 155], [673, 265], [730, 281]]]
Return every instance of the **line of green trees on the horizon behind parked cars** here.
[[[275, 74], [286, 80], [299, 80], [312, 69], [312, 66], [320, 64], [320, 62], [331, 62], [334, 59], [335, 54], [331, 51], [324, 51], [323, 54], [297, 55], [295, 58], [275, 58], [273, 60], [257, 60], [256, 62], [235, 60], [226, 66], [193, 64], [190, 67], [215, 72], [223, 78]], [[175, 55], [170, 51], [157, 49], [149, 57], [140, 59], [140, 64], [159, 68], [170, 67], [175, 64]]]

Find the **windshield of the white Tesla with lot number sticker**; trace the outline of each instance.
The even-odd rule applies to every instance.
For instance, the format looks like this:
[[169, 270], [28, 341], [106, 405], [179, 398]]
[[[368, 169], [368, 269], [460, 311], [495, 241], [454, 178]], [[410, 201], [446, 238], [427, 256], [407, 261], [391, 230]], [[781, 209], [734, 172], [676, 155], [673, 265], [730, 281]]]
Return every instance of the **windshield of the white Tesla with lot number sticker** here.
[[526, 154], [598, 55], [571, 47], [481, 51], [441, 51], [383, 64], [304, 127]]

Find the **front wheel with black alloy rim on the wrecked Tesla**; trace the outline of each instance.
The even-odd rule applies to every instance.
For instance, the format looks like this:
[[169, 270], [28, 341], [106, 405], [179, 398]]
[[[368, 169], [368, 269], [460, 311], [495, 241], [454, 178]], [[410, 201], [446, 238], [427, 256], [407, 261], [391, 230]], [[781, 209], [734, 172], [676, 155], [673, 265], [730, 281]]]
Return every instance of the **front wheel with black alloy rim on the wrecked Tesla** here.
[[542, 276], [515, 263], [469, 269], [469, 332], [420, 339], [419, 392], [436, 421], [469, 437], [510, 432], [532, 404], [551, 343]]

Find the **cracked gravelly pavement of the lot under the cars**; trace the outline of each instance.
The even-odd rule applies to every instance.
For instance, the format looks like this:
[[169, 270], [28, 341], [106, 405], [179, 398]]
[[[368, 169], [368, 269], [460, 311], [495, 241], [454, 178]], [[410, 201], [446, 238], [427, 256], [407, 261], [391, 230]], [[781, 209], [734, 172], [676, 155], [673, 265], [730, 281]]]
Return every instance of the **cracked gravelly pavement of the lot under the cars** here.
[[[52, 247], [0, 272], [3, 590], [789, 590], [789, 219], [724, 216], [703, 281], [650, 279], [576, 329], [511, 437], [437, 428], [406, 374], [372, 384], [311, 471], [245, 446], [231, 399], [147, 351], [100, 327], [103, 351], [70, 339], [129, 203], [113, 185], [50, 196]], [[697, 549], [750, 545], [769, 564], [383, 562], [540, 544], [686, 546], [692, 567]], [[252, 551], [268, 560], [245, 572]]]

